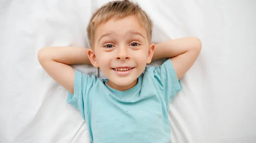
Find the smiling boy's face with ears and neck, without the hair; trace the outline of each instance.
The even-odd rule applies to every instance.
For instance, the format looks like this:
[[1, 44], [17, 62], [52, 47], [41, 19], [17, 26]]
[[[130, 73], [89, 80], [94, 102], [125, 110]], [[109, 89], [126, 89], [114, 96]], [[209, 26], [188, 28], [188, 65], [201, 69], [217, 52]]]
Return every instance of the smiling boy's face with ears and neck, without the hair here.
[[116, 90], [134, 87], [154, 53], [145, 28], [134, 16], [111, 19], [96, 28], [94, 39], [94, 49], [88, 56], [108, 78], [108, 85]]

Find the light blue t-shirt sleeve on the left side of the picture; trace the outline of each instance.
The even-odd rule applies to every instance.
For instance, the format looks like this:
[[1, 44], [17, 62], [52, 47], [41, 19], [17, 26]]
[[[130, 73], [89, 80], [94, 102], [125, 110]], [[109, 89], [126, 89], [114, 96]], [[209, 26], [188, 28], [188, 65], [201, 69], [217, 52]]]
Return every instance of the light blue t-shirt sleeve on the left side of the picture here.
[[86, 107], [84, 104], [86, 104], [88, 97], [87, 96], [87, 84], [90, 84], [90, 77], [88, 75], [85, 75], [78, 70], [75, 70], [75, 79], [74, 79], [74, 95], [68, 91], [67, 94], [67, 103], [71, 104], [73, 107], [78, 109], [81, 113], [82, 118], [85, 120], [84, 111]]

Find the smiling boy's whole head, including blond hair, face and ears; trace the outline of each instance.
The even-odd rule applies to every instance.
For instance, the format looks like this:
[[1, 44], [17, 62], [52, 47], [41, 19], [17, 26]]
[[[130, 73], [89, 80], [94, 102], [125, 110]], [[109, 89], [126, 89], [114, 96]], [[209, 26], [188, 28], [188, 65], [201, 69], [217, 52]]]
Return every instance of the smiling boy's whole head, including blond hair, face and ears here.
[[154, 53], [152, 27], [145, 11], [129, 0], [109, 2], [92, 15], [87, 27], [88, 56], [109, 85], [119, 88], [137, 83]]

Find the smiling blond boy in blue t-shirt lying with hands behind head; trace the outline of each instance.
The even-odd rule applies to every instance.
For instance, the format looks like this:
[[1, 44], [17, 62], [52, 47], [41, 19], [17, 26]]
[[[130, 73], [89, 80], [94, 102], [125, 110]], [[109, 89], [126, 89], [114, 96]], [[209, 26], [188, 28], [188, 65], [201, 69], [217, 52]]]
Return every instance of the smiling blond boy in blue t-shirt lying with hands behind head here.
[[[152, 22], [138, 4], [112, 1], [90, 19], [91, 49], [38, 52], [44, 70], [69, 91], [67, 102], [79, 109], [92, 143], [170, 143], [169, 103], [182, 89], [178, 79], [194, 64], [201, 42], [186, 37], [154, 45], [151, 34]], [[171, 59], [146, 67], [161, 58]], [[84, 75], [70, 64], [93, 64], [108, 79]]]

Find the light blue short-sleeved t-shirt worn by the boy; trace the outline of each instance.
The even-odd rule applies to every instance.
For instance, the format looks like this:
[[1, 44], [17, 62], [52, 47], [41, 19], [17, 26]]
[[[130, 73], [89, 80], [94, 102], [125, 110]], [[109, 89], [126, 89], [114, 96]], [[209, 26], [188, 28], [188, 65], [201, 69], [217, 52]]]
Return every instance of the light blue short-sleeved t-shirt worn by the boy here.
[[114, 90], [106, 82], [75, 70], [74, 95], [68, 93], [92, 143], [170, 143], [169, 103], [182, 90], [170, 59], [146, 67], [129, 90]]

